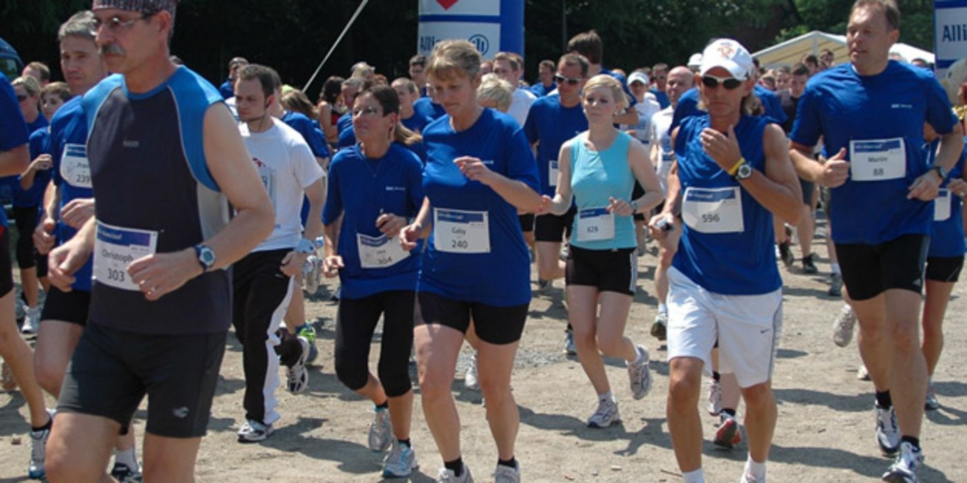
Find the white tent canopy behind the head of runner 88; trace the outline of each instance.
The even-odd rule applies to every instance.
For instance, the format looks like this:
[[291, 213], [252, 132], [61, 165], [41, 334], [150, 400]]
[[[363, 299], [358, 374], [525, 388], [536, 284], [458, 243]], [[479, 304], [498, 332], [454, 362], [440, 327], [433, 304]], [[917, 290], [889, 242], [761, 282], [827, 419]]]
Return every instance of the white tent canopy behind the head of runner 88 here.
[[[813, 30], [795, 39], [764, 48], [753, 53], [752, 56], [759, 59], [762, 67], [770, 69], [781, 66], [792, 66], [807, 54], [819, 56], [819, 52], [825, 48], [833, 51], [836, 64], [849, 62], [846, 36], [827, 34], [826, 32], [820, 32], [818, 30]], [[907, 61], [921, 58], [930, 64], [934, 63], [932, 52], [927, 52], [926, 50], [906, 43], [894, 43], [894, 46], [890, 48], [890, 53], [899, 54]]]

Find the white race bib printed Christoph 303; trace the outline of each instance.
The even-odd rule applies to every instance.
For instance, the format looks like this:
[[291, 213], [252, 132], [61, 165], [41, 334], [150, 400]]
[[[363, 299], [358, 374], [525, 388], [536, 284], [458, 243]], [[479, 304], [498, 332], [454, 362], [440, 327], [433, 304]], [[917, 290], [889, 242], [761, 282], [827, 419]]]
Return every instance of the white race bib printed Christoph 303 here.
[[128, 274], [134, 260], [155, 253], [158, 232], [111, 226], [98, 221], [94, 242], [94, 279], [116, 289], [137, 291]]

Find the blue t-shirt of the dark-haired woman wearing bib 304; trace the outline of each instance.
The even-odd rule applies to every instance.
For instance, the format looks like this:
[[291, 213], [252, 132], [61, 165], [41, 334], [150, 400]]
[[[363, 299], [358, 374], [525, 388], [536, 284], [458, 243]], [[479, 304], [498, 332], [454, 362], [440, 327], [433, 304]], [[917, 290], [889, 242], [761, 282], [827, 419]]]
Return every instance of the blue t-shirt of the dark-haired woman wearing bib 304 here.
[[381, 213], [412, 218], [423, 206], [423, 164], [410, 150], [391, 143], [386, 155], [368, 159], [360, 146], [341, 150], [329, 171], [329, 190], [322, 222], [339, 228], [338, 254], [344, 267], [339, 270], [343, 298], [366, 298], [391, 290], [416, 290], [421, 247], [396, 264], [363, 268], [360, 247], [397, 243], [376, 227]]

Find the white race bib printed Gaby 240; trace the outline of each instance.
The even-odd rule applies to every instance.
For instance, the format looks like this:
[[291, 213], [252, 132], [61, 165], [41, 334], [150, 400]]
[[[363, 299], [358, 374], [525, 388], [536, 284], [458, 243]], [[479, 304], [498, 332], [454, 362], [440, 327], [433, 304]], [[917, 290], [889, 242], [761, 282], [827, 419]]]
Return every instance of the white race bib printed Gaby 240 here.
[[433, 246], [450, 253], [490, 253], [487, 213], [434, 208]]

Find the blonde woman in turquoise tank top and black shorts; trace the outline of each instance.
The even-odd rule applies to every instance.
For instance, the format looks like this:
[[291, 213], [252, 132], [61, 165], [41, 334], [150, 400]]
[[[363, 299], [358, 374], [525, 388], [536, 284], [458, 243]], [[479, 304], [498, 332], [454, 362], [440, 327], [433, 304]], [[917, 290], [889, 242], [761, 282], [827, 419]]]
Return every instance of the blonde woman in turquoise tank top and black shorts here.
[[[589, 128], [561, 147], [558, 159], [568, 162], [559, 165], [554, 198], [543, 197], [543, 213], [566, 213], [572, 196], [577, 206], [566, 272], [568, 320], [577, 358], [598, 394], [598, 411], [588, 426], [599, 428], [621, 420], [601, 353], [627, 361], [634, 399], [645, 397], [652, 382], [648, 351], [624, 333], [638, 277], [632, 214], [657, 206], [661, 188], [645, 148], [614, 128], [614, 115], [627, 102], [614, 77], [588, 81], [582, 103]], [[635, 180], [645, 194], [632, 200]]]

